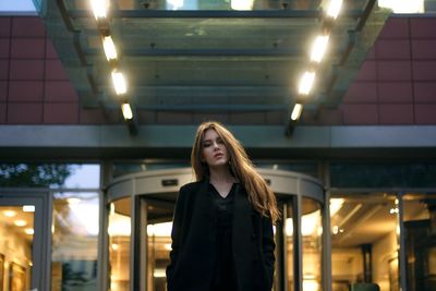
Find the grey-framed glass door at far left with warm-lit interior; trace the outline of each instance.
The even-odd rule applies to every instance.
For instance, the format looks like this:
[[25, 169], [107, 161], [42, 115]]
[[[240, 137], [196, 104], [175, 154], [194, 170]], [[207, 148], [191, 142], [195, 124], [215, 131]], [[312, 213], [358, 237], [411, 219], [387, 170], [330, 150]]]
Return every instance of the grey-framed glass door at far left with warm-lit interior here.
[[48, 197], [23, 190], [0, 192], [0, 290], [49, 289], [43, 277], [49, 266]]

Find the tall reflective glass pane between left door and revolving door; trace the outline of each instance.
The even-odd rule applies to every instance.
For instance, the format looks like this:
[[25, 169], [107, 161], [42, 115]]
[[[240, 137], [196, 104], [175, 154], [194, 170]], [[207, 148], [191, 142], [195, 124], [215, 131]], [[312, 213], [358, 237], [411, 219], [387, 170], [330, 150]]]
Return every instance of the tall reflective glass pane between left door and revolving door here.
[[51, 290], [96, 290], [98, 193], [55, 193]]

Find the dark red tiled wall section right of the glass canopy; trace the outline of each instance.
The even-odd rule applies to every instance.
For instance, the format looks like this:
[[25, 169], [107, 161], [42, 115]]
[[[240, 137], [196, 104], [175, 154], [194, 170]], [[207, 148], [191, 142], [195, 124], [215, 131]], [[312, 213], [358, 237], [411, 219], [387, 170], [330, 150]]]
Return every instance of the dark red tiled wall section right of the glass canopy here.
[[390, 17], [322, 124], [436, 124], [436, 17]]

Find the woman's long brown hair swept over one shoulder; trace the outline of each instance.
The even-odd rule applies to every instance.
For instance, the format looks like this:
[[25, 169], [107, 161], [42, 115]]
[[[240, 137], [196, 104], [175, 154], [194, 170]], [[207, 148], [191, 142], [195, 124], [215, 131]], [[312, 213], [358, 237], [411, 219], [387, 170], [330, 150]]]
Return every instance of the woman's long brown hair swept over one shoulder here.
[[202, 143], [207, 130], [215, 130], [229, 151], [229, 168], [234, 178], [242, 183], [249, 194], [249, 201], [263, 216], [269, 216], [272, 222], [280, 217], [276, 196], [265, 180], [257, 173], [241, 143], [221, 123], [207, 121], [199, 124], [191, 151], [191, 165], [197, 181], [209, 175], [207, 163], [202, 162]]

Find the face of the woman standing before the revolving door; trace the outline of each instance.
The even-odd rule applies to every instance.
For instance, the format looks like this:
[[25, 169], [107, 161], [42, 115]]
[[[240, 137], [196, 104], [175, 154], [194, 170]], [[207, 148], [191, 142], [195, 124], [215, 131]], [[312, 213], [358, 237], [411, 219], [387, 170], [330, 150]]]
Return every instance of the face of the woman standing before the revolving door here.
[[203, 137], [202, 161], [205, 161], [209, 167], [226, 166], [229, 161], [227, 147], [214, 129], [207, 130]]

